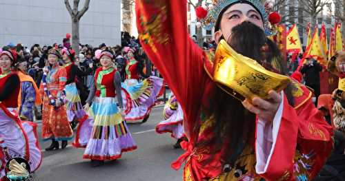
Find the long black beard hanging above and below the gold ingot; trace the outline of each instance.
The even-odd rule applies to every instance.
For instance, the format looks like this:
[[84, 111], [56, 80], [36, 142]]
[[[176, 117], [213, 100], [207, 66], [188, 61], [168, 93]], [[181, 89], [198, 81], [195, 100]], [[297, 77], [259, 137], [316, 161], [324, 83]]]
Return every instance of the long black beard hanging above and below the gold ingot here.
[[[257, 25], [245, 21], [235, 26], [227, 42], [239, 54], [253, 58], [262, 65], [270, 65], [266, 66], [268, 70], [274, 69], [280, 74], [287, 74], [277, 45], [267, 39], [264, 31]], [[263, 52], [262, 47], [267, 47], [268, 50]], [[285, 94], [290, 105], [293, 105], [290, 85], [285, 89]], [[204, 142], [199, 141], [195, 146], [215, 145], [214, 153], [225, 147], [226, 156], [223, 164], [235, 164], [244, 147], [255, 138], [255, 114], [219, 87], [215, 87], [211, 100], [208, 116], [215, 118], [213, 138]], [[204, 164], [207, 163], [206, 161]]]

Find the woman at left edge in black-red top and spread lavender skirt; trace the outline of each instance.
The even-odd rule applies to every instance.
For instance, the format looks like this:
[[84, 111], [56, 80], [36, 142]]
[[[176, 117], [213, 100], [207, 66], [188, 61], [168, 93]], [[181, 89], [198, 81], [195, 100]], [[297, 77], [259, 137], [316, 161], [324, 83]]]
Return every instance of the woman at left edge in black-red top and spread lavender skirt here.
[[[0, 53], [0, 180], [26, 180], [42, 159], [37, 125], [19, 120], [21, 84], [17, 72], [12, 71], [16, 61], [16, 52]], [[20, 171], [12, 171], [13, 167]]]

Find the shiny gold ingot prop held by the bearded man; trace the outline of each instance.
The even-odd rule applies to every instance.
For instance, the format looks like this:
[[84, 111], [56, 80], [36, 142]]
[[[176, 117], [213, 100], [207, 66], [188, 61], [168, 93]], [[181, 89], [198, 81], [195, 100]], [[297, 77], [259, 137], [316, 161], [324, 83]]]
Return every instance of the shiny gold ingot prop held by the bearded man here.
[[215, 53], [213, 78], [221, 89], [239, 100], [268, 99], [270, 90], [281, 92], [290, 83], [288, 76], [266, 70], [257, 61], [235, 52], [224, 40]]

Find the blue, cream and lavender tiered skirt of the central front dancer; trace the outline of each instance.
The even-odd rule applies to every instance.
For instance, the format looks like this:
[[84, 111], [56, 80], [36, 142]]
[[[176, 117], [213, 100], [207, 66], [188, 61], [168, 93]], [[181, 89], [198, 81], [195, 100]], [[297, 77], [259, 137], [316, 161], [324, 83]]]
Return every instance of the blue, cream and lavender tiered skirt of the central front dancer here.
[[88, 115], [94, 123], [83, 158], [115, 160], [124, 151], [137, 149], [126, 122], [117, 108], [116, 98], [95, 97]]

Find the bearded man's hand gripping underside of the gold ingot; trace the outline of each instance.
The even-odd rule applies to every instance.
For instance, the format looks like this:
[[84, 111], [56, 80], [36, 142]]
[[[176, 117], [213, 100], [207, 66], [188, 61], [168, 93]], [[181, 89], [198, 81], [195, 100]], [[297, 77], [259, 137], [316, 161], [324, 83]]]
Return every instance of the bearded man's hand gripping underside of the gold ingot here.
[[248, 111], [256, 114], [260, 120], [272, 122], [280, 103], [282, 103], [282, 96], [273, 90], [268, 92], [268, 95], [270, 96], [268, 100], [256, 97], [253, 98], [251, 103], [248, 100], [244, 100], [242, 105], [244, 105]]

